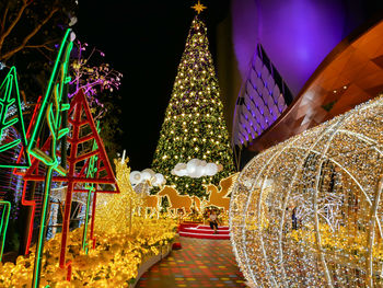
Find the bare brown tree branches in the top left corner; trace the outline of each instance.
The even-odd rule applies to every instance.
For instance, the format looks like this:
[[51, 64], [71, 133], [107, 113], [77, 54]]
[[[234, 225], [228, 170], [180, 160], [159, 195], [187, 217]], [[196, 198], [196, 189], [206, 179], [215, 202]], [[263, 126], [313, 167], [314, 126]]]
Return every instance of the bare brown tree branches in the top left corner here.
[[[70, 23], [76, 1], [8, 0], [0, 3], [0, 61], [24, 49], [54, 50], [51, 30]], [[56, 33], [57, 35], [57, 33]]]

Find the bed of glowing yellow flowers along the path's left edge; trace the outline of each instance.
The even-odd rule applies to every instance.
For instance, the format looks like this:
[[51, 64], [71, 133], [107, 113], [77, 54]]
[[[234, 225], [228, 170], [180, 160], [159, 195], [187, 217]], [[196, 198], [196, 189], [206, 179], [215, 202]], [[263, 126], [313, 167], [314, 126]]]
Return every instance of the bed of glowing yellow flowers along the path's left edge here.
[[[134, 223], [131, 235], [96, 232], [96, 246], [82, 251], [82, 229], [69, 234], [67, 258], [72, 261], [72, 280], [57, 263], [60, 255], [60, 234], [46, 242], [40, 287], [130, 287], [139, 265], [170, 247], [177, 223], [172, 219], [141, 219]], [[0, 263], [0, 287], [28, 287], [35, 253], [19, 256], [16, 263]], [[48, 286], [49, 285], [49, 286]]]

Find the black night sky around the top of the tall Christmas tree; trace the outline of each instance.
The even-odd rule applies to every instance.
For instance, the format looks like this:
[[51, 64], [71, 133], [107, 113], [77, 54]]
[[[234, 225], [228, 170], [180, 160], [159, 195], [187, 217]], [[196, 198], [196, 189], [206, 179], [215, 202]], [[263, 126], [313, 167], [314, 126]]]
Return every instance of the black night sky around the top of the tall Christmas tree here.
[[[73, 30], [81, 42], [105, 53], [105, 61], [124, 74], [123, 149], [131, 170], [149, 168], [177, 66], [197, 1], [79, 1]], [[216, 27], [229, 15], [230, 1], [201, 1], [210, 51], [216, 57]], [[216, 58], [213, 59], [217, 64]], [[217, 67], [216, 67], [217, 68]]]

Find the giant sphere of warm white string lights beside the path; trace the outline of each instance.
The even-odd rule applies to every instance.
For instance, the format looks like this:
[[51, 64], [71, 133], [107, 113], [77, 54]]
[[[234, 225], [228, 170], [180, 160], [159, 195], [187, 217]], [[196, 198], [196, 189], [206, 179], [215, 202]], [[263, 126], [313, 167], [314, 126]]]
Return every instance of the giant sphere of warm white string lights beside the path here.
[[383, 287], [383, 96], [263, 151], [230, 229], [252, 287]]

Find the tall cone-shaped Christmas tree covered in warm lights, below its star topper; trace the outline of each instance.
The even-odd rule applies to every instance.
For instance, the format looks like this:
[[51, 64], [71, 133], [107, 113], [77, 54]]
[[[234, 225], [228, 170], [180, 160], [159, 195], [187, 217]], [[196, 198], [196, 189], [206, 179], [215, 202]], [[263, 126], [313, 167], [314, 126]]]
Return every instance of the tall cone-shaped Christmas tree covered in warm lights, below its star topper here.
[[[176, 164], [192, 159], [221, 164], [223, 169], [202, 177], [171, 173]], [[166, 184], [176, 185], [181, 194], [196, 196], [206, 195], [204, 184], [218, 185], [235, 171], [207, 28], [198, 15], [186, 39], [152, 168], [166, 175]]]

